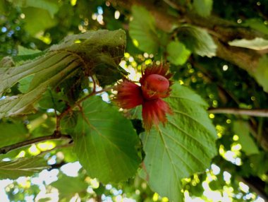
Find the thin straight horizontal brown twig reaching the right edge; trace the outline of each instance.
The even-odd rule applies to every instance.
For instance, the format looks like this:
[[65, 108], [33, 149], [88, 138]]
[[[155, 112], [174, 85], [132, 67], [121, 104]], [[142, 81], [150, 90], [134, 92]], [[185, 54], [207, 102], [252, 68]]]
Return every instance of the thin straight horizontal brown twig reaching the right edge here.
[[212, 114], [238, 114], [252, 117], [268, 117], [268, 109], [209, 108]]

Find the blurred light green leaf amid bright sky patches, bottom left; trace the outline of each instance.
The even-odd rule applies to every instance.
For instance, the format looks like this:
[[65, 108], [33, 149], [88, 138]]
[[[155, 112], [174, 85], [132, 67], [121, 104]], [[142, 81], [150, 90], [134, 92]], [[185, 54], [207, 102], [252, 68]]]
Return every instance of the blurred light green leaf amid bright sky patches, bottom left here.
[[71, 199], [76, 193], [86, 192], [88, 184], [79, 177], [68, 177], [66, 174], [61, 174], [61, 177], [56, 182], [51, 183], [51, 186], [59, 190], [59, 199]]

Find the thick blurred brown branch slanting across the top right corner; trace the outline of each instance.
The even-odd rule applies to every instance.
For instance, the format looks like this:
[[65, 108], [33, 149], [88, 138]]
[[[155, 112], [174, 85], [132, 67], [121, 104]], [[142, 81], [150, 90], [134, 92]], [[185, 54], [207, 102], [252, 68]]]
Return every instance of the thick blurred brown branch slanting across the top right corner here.
[[[205, 28], [214, 38], [218, 49], [217, 57], [239, 66], [240, 68], [252, 73], [258, 65], [258, 61], [263, 54], [267, 53], [267, 49], [256, 51], [240, 47], [229, 46], [228, 42], [235, 39], [252, 40], [255, 37], [268, 39], [268, 35], [262, 32], [244, 27], [238, 23], [218, 18], [217, 16], [209, 16], [202, 18], [192, 11], [186, 11], [185, 8], [176, 4], [175, 1], [142, 1], [142, 0], [109, 0], [115, 7], [125, 8], [128, 11], [131, 6], [144, 6], [155, 18], [157, 28], [165, 32], [172, 32], [173, 28], [181, 23], [189, 23], [200, 28]], [[171, 6], [180, 14], [179, 17], [172, 16], [167, 12], [167, 8]]]

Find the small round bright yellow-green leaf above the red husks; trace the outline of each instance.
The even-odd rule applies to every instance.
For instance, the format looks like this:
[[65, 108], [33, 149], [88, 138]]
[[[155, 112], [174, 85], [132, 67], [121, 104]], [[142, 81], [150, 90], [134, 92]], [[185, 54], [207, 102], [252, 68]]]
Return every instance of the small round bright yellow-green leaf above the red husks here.
[[170, 42], [166, 47], [166, 51], [168, 53], [167, 59], [172, 64], [185, 64], [188, 57], [190, 57], [190, 51], [181, 42]]

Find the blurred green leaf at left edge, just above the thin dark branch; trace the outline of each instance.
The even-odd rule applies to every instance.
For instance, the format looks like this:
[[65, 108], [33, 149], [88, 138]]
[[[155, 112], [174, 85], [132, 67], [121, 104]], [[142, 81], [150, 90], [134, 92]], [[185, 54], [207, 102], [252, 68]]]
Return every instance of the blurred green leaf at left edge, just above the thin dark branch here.
[[29, 136], [30, 133], [24, 124], [0, 123], [0, 147], [24, 141]]

